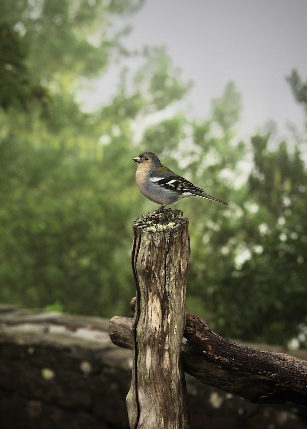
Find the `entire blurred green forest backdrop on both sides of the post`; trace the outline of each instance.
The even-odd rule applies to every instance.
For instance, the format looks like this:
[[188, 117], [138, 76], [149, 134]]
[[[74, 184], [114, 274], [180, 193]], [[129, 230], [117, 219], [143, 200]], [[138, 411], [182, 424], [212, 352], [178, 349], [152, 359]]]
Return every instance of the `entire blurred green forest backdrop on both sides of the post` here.
[[[277, 344], [297, 338], [306, 347], [302, 148], [285, 141], [272, 148], [270, 132], [238, 141], [233, 82], [210, 117], [175, 113], [145, 126], [189, 83], [164, 48], [130, 52], [129, 29], [112, 27], [142, 3], [0, 2], [0, 302], [127, 315], [135, 290], [131, 225], [156, 207], [137, 189], [132, 158], [152, 151], [229, 203], [191, 198], [177, 206], [190, 221], [187, 310], [219, 335]], [[78, 91], [127, 57], [137, 59], [137, 73], [131, 78], [123, 68], [111, 103], [83, 112]], [[307, 82], [291, 70], [288, 82], [307, 124]]]

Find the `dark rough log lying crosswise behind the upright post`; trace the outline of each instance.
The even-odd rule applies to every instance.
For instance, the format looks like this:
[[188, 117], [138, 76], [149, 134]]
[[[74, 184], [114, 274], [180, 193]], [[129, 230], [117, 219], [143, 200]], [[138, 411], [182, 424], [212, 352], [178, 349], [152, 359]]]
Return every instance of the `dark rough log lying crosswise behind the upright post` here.
[[[113, 317], [110, 337], [132, 347], [132, 320]], [[307, 405], [307, 361], [284, 353], [257, 350], [214, 333], [198, 316], [187, 313], [181, 358], [185, 372], [202, 383], [258, 404]]]

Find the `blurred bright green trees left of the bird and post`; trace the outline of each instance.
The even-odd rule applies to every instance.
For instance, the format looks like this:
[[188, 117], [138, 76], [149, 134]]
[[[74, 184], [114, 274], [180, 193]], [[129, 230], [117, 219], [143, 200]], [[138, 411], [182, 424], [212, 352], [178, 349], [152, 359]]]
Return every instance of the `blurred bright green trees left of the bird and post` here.
[[81, 78], [101, 74], [112, 57], [130, 55], [121, 42], [128, 30], [114, 32], [111, 21], [142, 3], [0, 4], [2, 302], [55, 302], [100, 315], [129, 311], [128, 228], [142, 199], [131, 161], [139, 152], [133, 121], [186, 89], [164, 49], [146, 48], [143, 79], [128, 90], [123, 73], [108, 106], [85, 113], [75, 95]]

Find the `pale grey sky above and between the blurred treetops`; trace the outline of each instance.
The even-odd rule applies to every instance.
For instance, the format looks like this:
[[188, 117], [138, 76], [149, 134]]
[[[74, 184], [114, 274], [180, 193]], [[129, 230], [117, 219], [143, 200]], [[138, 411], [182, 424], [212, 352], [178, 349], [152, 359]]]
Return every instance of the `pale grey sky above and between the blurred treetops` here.
[[[166, 45], [182, 79], [194, 81], [181, 103], [191, 115], [210, 115], [233, 80], [242, 95], [241, 137], [270, 120], [278, 138], [289, 137], [289, 121], [303, 132], [304, 110], [285, 77], [295, 68], [307, 79], [307, 0], [147, 0], [123, 22], [133, 27], [125, 46]], [[106, 103], [117, 82], [112, 71], [97, 79], [86, 106]]]

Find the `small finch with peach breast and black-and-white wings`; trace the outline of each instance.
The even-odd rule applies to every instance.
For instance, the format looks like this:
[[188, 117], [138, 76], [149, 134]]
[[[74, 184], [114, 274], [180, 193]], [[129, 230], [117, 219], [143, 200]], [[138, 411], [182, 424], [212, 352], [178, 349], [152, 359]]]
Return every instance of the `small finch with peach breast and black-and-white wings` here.
[[133, 160], [137, 162], [135, 181], [140, 191], [151, 201], [161, 204], [149, 215], [155, 215], [163, 210], [166, 205], [176, 204], [179, 199], [186, 196], [201, 196], [228, 205], [222, 199], [208, 195], [201, 188], [194, 186], [193, 183], [164, 167], [159, 158], [152, 152], [143, 152]]

